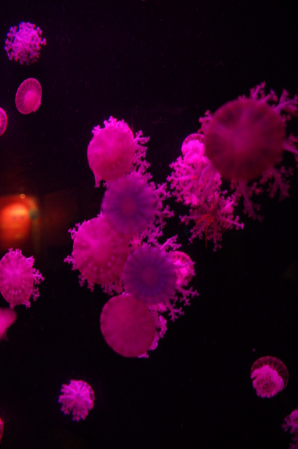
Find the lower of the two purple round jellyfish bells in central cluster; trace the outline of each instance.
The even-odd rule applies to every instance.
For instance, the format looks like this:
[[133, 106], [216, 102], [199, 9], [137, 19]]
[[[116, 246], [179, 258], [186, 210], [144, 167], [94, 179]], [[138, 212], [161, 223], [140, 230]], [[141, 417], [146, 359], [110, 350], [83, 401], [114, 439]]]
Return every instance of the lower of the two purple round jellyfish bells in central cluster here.
[[160, 247], [143, 245], [134, 250], [122, 276], [125, 291], [149, 305], [169, 300], [175, 293], [173, 259]]

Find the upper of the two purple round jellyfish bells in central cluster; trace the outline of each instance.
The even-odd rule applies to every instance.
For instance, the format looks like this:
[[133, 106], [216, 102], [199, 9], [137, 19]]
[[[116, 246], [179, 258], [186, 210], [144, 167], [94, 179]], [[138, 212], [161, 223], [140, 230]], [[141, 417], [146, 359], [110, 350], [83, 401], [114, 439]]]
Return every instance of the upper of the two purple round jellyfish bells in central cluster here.
[[150, 225], [155, 216], [156, 203], [154, 191], [146, 180], [132, 174], [111, 183], [101, 207], [113, 229], [132, 236]]

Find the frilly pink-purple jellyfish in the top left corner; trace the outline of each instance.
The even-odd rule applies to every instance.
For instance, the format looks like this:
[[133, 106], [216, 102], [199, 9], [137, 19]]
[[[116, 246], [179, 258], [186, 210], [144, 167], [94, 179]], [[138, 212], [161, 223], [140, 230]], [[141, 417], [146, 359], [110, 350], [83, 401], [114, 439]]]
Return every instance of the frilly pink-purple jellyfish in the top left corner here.
[[41, 39], [43, 32], [34, 23], [20, 22], [18, 27], [10, 27], [5, 41], [5, 51], [10, 61], [33, 64], [39, 58], [41, 46], [47, 43]]

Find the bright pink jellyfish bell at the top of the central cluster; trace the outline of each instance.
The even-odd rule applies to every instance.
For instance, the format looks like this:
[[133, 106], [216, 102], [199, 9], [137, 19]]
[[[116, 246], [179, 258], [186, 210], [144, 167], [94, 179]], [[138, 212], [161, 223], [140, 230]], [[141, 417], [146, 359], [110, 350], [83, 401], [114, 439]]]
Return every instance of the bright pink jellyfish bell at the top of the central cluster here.
[[104, 122], [104, 128], [96, 126], [92, 133], [87, 159], [98, 187], [101, 180], [113, 181], [127, 173], [132, 166], [136, 145], [127, 123], [113, 117]]

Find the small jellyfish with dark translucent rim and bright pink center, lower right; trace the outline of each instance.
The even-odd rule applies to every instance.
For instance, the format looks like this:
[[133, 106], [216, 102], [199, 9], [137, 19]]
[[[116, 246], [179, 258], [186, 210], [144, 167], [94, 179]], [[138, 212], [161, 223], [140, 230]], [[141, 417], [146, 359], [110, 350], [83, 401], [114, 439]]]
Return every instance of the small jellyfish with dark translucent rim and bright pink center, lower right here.
[[276, 357], [258, 358], [250, 369], [250, 378], [257, 396], [272, 398], [288, 384], [289, 373], [284, 363]]

